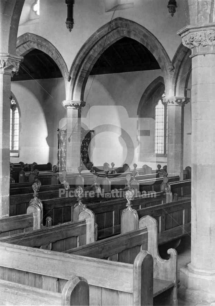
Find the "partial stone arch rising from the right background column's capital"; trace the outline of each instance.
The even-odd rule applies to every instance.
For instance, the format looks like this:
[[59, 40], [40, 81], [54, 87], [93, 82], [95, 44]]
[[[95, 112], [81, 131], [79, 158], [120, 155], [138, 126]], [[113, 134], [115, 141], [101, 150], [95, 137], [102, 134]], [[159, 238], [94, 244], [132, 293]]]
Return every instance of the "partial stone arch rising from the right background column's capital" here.
[[192, 68], [190, 54], [191, 50], [181, 43], [172, 60], [172, 64], [175, 67], [172, 80], [174, 96], [186, 97], [187, 95], [185, 88], [187, 88]]

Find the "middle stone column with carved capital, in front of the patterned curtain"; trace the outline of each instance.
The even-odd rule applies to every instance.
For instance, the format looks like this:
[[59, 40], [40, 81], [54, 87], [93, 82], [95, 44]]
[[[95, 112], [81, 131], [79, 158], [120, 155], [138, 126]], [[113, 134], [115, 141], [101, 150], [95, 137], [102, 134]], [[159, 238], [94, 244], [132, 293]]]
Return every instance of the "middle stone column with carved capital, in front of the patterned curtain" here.
[[81, 156], [81, 109], [84, 101], [64, 100], [67, 112], [66, 171], [77, 171]]

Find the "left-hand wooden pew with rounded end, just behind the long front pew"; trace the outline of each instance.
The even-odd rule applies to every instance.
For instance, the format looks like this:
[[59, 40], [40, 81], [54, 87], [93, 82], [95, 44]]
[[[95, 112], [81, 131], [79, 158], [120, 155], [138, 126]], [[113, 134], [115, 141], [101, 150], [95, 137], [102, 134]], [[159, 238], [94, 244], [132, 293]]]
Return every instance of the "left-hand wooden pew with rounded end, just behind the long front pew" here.
[[89, 209], [85, 209], [79, 214], [78, 220], [76, 222], [65, 222], [56, 226], [2, 237], [0, 241], [28, 247], [47, 248], [58, 252], [77, 247], [77, 245], [94, 242], [94, 213]]

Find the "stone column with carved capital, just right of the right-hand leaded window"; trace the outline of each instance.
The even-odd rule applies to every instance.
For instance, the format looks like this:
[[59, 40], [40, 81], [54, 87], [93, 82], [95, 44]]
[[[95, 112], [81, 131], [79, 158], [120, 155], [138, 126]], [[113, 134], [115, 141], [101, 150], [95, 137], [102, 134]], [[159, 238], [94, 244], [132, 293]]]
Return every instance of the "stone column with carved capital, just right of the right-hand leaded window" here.
[[184, 106], [189, 99], [185, 97], [164, 97], [168, 111], [167, 133], [167, 173], [179, 175], [183, 180], [184, 158]]

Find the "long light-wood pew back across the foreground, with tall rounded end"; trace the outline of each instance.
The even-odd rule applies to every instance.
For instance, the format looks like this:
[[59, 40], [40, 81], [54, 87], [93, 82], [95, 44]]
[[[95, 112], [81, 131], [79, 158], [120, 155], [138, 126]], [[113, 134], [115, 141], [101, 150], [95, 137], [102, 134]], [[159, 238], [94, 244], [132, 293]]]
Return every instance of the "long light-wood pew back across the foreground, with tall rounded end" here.
[[4, 280], [62, 292], [71, 276], [80, 275], [88, 281], [90, 305], [152, 305], [153, 261], [146, 251], [138, 254], [134, 264], [3, 242], [0, 253], [0, 275]]

